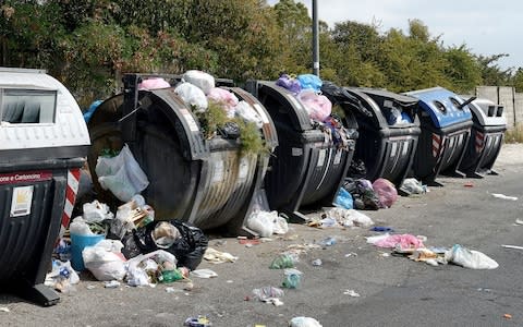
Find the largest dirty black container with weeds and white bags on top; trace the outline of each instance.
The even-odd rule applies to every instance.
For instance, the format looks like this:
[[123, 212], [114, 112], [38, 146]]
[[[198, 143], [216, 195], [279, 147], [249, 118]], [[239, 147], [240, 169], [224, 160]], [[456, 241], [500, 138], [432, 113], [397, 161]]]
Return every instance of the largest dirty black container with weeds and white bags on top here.
[[[155, 209], [155, 219], [181, 219], [200, 229], [227, 228], [241, 233], [236, 229], [244, 227], [270, 152], [242, 153], [239, 140], [219, 134], [206, 138], [197, 117], [174, 87], [138, 90], [138, 84], [148, 77], [125, 75], [124, 93], [100, 104], [89, 120], [93, 147], [88, 162], [99, 199], [111, 207], [120, 204], [100, 187], [97, 158], [127, 144], [149, 180], [142, 195]], [[174, 86], [178, 78], [169, 81]], [[276, 130], [263, 106], [241, 88], [228, 89], [262, 117], [259, 135], [273, 148]]]

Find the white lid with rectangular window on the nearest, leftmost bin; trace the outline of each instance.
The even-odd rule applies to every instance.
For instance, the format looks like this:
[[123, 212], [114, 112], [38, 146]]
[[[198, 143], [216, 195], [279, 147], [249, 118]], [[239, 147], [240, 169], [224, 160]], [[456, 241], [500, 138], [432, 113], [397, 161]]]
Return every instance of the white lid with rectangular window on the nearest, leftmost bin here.
[[62, 148], [63, 156], [64, 147], [90, 145], [76, 100], [42, 70], [0, 68], [0, 152]]

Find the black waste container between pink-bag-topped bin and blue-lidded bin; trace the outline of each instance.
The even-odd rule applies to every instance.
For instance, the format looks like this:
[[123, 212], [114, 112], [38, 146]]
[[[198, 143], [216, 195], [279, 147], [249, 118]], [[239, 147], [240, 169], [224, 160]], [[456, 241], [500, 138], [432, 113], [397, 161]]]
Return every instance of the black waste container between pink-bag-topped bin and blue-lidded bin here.
[[[360, 134], [353, 162], [365, 166], [365, 178], [385, 178], [397, 187], [412, 167], [421, 133], [417, 99], [385, 89], [343, 87], [356, 100], [338, 101], [354, 113]], [[323, 88], [324, 94], [329, 88]], [[366, 110], [361, 110], [363, 106]], [[349, 171], [349, 175], [351, 170]]]

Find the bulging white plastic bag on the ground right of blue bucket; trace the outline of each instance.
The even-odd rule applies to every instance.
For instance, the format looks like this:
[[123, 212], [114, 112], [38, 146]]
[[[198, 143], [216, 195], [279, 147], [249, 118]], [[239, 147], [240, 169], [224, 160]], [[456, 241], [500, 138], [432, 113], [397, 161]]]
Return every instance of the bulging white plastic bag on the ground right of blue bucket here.
[[121, 254], [122, 242], [101, 240], [82, 251], [85, 267], [97, 280], [122, 280], [126, 275], [125, 261]]

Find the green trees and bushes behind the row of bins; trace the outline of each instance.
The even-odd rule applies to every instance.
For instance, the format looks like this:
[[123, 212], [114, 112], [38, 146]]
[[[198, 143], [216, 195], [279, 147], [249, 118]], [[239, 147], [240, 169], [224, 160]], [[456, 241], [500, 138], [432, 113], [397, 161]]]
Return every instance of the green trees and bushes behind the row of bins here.
[[[242, 83], [312, 70], [312, 19], [295, 0], [5, 0], [0, 65], [47, 69], [84, 106], [114, 92], [125, 72], [199, 69]], [[508, 56], [447, 47], [419, 20], [405, 32], [320, 22], [320, 76], [346, 86], [404, 92], [440, 85], [523, 89]]]

